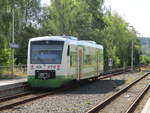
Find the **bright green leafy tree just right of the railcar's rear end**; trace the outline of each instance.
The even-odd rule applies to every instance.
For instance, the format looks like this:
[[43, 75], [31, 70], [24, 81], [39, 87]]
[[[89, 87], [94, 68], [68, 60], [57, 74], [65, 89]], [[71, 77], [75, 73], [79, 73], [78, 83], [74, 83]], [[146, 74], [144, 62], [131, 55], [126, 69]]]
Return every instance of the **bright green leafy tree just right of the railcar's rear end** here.
[[[117, 13], [107, 11], [104, 16], [107, 27], [102, 31], [105, 48], [105, 69], [108, 58], [113, 58], [114, 67], [127, 66], [131, 63], [131, 42], [134, 41], [134, 54], [139, 51], [136, 33]], [[135, 57], [134, 57], [135, 61]]]

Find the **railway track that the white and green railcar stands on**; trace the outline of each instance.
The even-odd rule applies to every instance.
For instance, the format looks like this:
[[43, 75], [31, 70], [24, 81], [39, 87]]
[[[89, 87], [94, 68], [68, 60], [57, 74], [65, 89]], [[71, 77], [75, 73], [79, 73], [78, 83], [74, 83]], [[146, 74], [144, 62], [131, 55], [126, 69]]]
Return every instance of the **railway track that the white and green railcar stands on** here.
[[[126, 70], [126, 71], [117, 71], [115, 73], [113, 72], [113, 74], [108, 74], [105, 77], [99, 77], [98, 79], [110, 78], [110, 77], [122, 74], [124, 72], [127, 72], [127, 71], [128, 70]], [[19, 93], [19, 94], [16, 94], [16, 95], [1, 97], [0, 98], [0, 111], [10, 109], [10, 108], [13, 108], [17, 105], [24, 104], [24, 103], [27, 103], [27, 102], [30, 102], [30, 101], [33, 101], [33, 100], [36, 100], [36, 99], [39, 99], [39, 98], [42, 98], [42, 97], [46, 97], [46, 96], [50, 96], [50, 95], [53, 95], [53, 94], [61, 93], [63, 91], [68, 91], [70, 89], [78, 88], [81, 85], [82, 86], [87, 85], [88, 83], [91, 83], [91, 82], [93, 82], [93, 81], [83, 80], [83, 81], [72, 83], [73, 85], [69, 85], [69, 87], [68, 86], [67, 87], [62, 87], [62, 88], [55, 89], [55, 90], [48, 90], [48, 91], [42, 91], [42, 92], [40, 91], [39, 92], [39, 91], [35, 91], [35, 90], [32, 91], [32, 89], [30, 89], [26, 92]], [[20, 87], [29, 87], [29, 86], [28, 86], [28, 84], [26, 84], [25, 86], [20, 86]], [[20, 88], [20, 87], [19, 86], [18, 87], [13, 87], [13, 89], [15, 90], [15, 88]], [[6, 90], [10, 90], [10, 89], [6, 89]]]

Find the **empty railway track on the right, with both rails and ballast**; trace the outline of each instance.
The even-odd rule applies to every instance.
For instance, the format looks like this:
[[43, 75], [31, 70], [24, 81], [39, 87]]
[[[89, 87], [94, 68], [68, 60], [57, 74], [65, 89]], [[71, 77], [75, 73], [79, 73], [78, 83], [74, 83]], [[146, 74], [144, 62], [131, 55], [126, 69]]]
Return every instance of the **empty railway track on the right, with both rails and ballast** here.
[[[149, 90], [149, 83], [150, 83], [150, 79], [146, 79], [146, 77], [149, 77], [150, 73], [145, 74], [144, 76], [142, 76], [141, 78], [139, 78], [138, 80], [132, 82], [131, 84], [129, 84], [127, 87], [123, 88], [122, 90], [120, 90], [119, 92], [115, 93], [114, 95], [112, 95], [111, 97], [107, 98], [106, 100], [104, 100], [101, 103], [98, 103], [96, 106], [94, 106], [93, 108], [91, 108], [89, 111], [87, 111], [86, 113], [106, 113], [106, 112], [110, 112], [110, 107], [112, 107], [113, 105], [115, 105], [115, 102], [118, 104], [119, 100], [121, 100], [121, 98], [124, 98], [124, 95], [126, 94], [133, 94], [133, 93], [137, 93], [136, 98], [132, 99], [132, 102], [130, 102], [131, 104], [129, 104], [129, 102], [127, 102], [127, 106], [126, 104], [124, 104], [126, 106], [126, 108], [120, 108], [121, 111], [119, 113], [132, 113], [137, 105], [137, 103], [142, 99], [142, 97], [144, 96], [144, 94]], [[141, 82], [142, 81], [142, 82]], [[144, 84], [145, 86], [143, 86], [143, 90], [139, 90], [134, 92], [133, 90], [136, 89], [136, 84]], [[139, 88], [140, 89], [140, 88]], [[128, 95], [129, 96], [129, 95]], [[118, 99], [118, 100], [117, 100]], [[127, 100], [127, 99], [126, 99]], [[119, 103], [121, 104], [121, 103]], [[119, 106], [119, 105], [118, 105]], [[123, 106], [123, 107], [125, 107]], [[113, 111], [111, 111], [113, 112]]]

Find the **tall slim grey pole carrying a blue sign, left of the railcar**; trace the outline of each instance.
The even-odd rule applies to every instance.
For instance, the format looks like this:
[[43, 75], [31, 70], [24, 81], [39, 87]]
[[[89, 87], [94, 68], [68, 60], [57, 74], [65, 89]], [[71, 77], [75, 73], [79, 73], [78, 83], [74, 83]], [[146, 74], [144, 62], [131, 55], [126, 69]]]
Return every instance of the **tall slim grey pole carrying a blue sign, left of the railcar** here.
[[[14, 8], [13, 8], [13, 10], [12, 10], [12, 44], [14, 44], [14, 42], [15, 42], [14, 24], [15, 24], [15, 18], [14, 18]], [[12, 48], [11, 76], [12, 76], [12, 78], [14, 78], [14, 48]]]

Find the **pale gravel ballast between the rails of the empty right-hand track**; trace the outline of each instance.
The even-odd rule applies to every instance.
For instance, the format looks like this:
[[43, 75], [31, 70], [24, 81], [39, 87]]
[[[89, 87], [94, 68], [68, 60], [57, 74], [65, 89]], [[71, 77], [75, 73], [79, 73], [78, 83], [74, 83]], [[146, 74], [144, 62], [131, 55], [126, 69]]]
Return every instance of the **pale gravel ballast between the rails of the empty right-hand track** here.
[[119, 95], [109, 105], [103, 108], [100, 113], [125, 113], [139, 94], [142, 93], [143, 89], [150, 83], [150, 80], [148, 80], [149, 78], [150, 76], [147, 76], [137, 82], [123, 94]]

